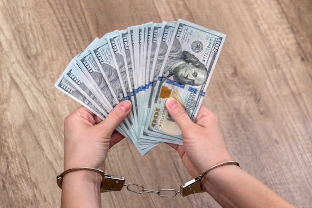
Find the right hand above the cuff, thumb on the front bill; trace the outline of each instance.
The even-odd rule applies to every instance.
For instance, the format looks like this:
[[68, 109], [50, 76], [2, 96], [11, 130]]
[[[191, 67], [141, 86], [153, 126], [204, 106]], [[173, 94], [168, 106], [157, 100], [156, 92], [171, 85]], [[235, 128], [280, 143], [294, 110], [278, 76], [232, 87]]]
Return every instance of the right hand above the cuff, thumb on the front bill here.
[[175, 99], [169, 98], [166, 101], [166, 108], [183, 136], [183, 146], [168, 145], [178, 152], [192, 177], [202, 174], [218, 163], [233, 160], [216, 113], [201, 106], [194, 123]]

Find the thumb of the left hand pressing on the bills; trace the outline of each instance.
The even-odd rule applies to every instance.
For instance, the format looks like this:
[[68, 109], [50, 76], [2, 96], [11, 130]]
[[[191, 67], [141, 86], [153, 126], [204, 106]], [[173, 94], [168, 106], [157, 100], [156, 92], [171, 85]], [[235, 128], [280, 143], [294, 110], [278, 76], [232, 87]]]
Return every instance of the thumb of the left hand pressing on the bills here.
[[98, 124], [100, 128], [107, 129], [107, 133], [111, 135], [115, 128], [127, 117], [131, 110], [130, 101], [123, 101], [116, 105], [108, 116]]

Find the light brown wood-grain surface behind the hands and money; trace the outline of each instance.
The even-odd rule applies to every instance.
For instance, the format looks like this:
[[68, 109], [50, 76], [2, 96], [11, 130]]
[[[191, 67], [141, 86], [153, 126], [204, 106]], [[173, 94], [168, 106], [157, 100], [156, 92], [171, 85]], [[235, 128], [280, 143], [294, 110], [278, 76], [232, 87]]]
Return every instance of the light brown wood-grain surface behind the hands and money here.
[[[241, 167], [289, 202], [312, 206], [311, 0], [1, 0], [0, 207], [56, 208], [63, 121], [78, 103], [53, 85], [95, 37], [182, 18], [227, 34], [204, 104]], [[145, 188], [191, 179], [173, 149], [145, 156], [124, 139], [106, 172]], [[215, 208], [208, 194], [102, 194], [107, 208]]]

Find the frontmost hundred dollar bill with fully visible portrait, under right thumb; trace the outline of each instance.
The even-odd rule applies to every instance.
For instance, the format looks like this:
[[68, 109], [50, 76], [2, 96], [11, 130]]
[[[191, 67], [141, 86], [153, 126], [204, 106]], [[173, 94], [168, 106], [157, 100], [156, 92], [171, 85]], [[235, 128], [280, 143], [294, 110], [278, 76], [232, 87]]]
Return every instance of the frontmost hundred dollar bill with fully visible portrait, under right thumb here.
[[157, 78], [145, 126], [148, 135], [182, 144], [181, 131], [168, 114], [165, 101], [175, 98], [195, 120], [225, 37], [220, 32], [178, 20]]

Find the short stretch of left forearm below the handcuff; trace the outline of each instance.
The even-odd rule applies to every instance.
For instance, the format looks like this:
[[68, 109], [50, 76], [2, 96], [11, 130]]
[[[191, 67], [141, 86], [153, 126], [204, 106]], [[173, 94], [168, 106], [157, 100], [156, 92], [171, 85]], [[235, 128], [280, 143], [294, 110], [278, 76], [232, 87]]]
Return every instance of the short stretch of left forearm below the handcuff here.
[[101, 208], [101, 176], [75, 171], [63, 178], [61, 208]]

